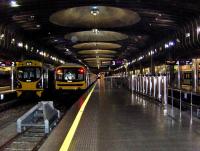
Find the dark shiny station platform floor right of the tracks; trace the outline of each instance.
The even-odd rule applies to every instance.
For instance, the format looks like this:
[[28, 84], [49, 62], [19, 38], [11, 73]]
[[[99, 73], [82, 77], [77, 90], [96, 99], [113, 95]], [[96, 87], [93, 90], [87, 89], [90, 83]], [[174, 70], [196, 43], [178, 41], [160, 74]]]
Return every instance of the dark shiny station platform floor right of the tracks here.
[[97, 81], [81, 112], [79, 124], [71, 127], [74, 134], [70, 129], [71, 139], [65, 138], [60, 151], [200, 150], [198, 120], [191, 124], [184, 115], [176, 120], [164, 113], [162, 105], [109, 80]]

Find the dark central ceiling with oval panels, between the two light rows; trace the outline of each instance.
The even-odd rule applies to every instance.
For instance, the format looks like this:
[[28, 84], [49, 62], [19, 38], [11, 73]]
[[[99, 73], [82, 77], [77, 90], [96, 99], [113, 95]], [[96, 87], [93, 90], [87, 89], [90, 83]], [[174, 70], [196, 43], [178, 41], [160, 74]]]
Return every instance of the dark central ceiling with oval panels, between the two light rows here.
[[[18, 0], [19, 7], [9, 2], [0, 1], [0, 22], [21, 29], [65, 61], [95, 69], [140, 55], [200, 13], [198, 0]], [[110, 48], [111, 43], [119, 47]]]

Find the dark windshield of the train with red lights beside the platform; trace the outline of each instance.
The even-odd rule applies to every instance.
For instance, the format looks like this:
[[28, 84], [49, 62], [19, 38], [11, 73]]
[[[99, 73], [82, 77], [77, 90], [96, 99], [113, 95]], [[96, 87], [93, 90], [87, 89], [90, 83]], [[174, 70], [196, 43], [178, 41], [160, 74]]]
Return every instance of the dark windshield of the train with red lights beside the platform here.
[[56, 71], [57, 81], [78, 82], [84, 81], [83, 68], [59, 68]]

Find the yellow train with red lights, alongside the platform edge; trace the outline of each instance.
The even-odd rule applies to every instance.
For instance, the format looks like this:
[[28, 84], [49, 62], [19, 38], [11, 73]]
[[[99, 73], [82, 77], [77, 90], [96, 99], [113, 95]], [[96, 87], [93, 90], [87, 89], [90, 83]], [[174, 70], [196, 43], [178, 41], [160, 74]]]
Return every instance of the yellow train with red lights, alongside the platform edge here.
[[86, 90], [96, 79], [85, 66], [68, 63], [55, 70], [55, 90]]

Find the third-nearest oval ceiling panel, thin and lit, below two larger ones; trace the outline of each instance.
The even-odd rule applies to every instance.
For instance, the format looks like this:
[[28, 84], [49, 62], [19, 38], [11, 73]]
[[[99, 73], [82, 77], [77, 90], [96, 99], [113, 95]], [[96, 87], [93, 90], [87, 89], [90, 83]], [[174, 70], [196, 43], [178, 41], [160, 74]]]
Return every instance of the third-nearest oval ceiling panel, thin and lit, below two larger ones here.
[[75, 49], [119, 49], [121, 45], [106, 42], [80, 43], [73, 46]]

